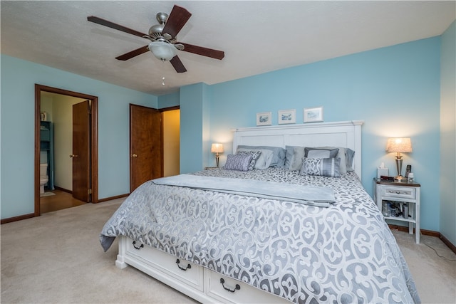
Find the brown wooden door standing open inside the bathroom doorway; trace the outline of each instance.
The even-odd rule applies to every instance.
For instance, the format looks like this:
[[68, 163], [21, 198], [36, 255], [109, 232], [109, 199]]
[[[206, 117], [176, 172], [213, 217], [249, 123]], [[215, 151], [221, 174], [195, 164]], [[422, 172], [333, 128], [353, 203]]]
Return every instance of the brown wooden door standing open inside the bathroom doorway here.
[[73, 105], [73, 197], [90, 201], [90, 102]]

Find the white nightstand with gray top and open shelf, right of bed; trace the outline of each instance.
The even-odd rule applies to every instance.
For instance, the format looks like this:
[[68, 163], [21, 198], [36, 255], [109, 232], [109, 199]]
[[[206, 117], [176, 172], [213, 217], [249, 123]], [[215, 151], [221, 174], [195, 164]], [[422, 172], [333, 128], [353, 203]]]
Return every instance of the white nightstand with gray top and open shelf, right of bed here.
[[[413, 234], [415, 225], [416, 243], [420, 243], [420, 184], [415, 182], [389, 182], [387, 180], [373, 179], [373, 200], [378, 209], [382, 211], [385, 220], [408, 222], [408, 233]], [[388, 204], [403, 206], [405, 216], [389, 214]], [[386, 209], [385, 209], [386, 207]]]

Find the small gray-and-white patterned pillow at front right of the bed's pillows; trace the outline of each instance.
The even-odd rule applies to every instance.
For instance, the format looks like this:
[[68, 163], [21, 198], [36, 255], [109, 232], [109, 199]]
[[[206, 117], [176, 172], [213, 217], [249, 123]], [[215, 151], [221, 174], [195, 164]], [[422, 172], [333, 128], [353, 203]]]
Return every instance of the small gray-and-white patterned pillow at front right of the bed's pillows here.
[[302, 160], [301, 175], [318, 175], [320, 177], [341, 177], [340, 158], [308, 158]]

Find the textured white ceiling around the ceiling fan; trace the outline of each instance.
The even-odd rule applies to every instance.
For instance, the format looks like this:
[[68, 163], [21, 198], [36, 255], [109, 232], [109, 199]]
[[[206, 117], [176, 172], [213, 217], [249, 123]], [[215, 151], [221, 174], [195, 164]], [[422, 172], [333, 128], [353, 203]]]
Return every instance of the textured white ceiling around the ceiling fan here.
[[[147, 40], [87, 21], [147, 33], [174, 4], [192, 13], [178, 40], [224, 51], [222, 61], [178, 51], [187, 73], [149, 52], [118, 61]], [[1, 1], [0, 9], [1, 53], [155, 95], [438, 36], [456, 19], [456, 1]]]

